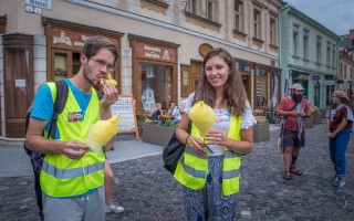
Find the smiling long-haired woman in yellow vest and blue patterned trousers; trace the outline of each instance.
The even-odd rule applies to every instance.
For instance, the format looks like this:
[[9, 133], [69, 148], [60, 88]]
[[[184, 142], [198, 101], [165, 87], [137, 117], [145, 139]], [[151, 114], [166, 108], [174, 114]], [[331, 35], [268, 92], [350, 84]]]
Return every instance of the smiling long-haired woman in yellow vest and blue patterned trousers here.
[[[202, 66], [198, 88], [189, 95], [176, 130], [177, 138], [187, 146], [174, 177], [185, 186], [188, 220], [232, 220], [241, 156], [252, 150], [256, 119], [232, 56], [223, 49], [214, 49]], [[216, 114], [205, 138], [214, 152], [208, 156], [192, 124], [187, 133], [189, 109], [199, 101], [214, 107]]]

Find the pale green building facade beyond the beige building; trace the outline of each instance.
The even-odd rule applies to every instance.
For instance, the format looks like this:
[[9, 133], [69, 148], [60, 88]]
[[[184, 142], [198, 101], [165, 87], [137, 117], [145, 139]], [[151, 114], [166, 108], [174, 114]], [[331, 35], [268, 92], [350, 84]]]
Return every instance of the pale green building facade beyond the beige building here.
[[281, 94], [301, 83], [312, 107], [327, 108], [337, 87], [340, 36], [290, 4], [280, 21]]

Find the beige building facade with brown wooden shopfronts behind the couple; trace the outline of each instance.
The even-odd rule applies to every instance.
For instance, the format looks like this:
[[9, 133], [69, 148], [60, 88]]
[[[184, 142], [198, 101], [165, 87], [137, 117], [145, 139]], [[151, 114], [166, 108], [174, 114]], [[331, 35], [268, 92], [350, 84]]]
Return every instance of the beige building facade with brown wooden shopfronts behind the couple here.
[[251, 106], [280, 98], [279, 0], [2, 0], [0, 1], [1, 136], [24, 135], [38, 87], [71, 77], [95, 34], [119, 51], [114, 78], [133, 94], [136, 113], [167, 108], [194, 92], [204, 55], [225, 48], [237, 61]]

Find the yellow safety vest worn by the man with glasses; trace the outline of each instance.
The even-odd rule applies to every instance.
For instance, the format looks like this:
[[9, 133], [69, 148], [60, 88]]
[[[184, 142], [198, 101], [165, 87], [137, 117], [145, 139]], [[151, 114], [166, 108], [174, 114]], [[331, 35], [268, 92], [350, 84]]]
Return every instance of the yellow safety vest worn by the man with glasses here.
[[[54, 83], [48, 83], [52, 98], [55, 99]], [[69, 115], [81, 110], [74, 94], [69, 87], [67, 101], [63, 112], [58, 116], [58, 129], [62, 141], [76, 139], [83, 141], [90, 126], [100, 119], [97, 93], [91, 90], [91, 101], [81, 122], [69, 122]], [[48, 133], [44, 131], [44, 137]], [[50, 197], [80, 196], [101, 187], [104, 182], [103, 152], [86, 152], [81, 159], [73, 160], [64, 155], [45, 155], [41, 170], [41, 188]]]

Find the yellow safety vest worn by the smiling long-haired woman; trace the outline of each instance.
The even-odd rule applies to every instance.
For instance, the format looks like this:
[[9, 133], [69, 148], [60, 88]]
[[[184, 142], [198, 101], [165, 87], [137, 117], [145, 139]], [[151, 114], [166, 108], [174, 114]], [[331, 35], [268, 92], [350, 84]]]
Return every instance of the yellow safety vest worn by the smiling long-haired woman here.
[[[231, 115], [230, 129], [228, 137], [240, 140], [242, 116]], [[200, 137], [195, 125], [191, 126], [191, 136]], [[223, 147], [222, 160], [222, 192], [225, 196], [233, 194], [239, 191], [240, 167], [242, 155], [231, 151]], [[192, 189], [200, 190], [207, 181], [208, 158], [206, 155], [199, 155], [186, 146], [185, 154], [177, 164], [174, 177], [181, 185]]]

